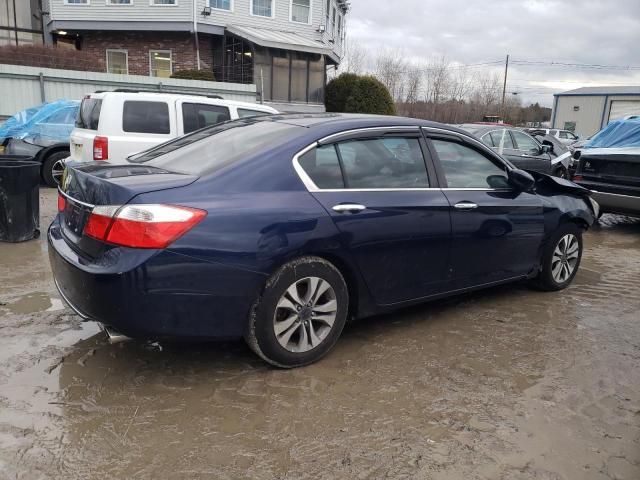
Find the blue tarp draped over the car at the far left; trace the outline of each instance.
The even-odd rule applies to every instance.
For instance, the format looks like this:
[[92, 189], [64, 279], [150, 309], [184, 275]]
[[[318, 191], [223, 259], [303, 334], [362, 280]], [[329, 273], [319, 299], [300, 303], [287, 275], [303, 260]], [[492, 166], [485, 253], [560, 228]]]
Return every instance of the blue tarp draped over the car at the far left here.
[[57, 100], [27, 108], [0, 125], [0, 143], [9, 138], [68, 142], [80, 102]]

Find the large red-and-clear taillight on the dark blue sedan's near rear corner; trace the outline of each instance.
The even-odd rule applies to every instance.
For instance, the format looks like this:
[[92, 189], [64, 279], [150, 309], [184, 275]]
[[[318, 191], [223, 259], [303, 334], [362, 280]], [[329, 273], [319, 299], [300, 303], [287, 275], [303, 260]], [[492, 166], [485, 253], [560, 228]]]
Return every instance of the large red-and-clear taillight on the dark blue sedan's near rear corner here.
[[84, 234], [131, 248], [166, 248], [200, 223], [207, 212], [174, 205], [94, 207]]

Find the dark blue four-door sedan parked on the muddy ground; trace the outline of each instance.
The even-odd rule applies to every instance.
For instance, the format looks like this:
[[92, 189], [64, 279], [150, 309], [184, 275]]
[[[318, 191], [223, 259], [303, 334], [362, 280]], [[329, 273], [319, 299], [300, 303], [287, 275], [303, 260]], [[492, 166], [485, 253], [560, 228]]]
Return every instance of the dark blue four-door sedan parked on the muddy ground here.
[[66, 169], [48, 234], [62, 296], [109, 332], [244, 337], [281, 367], [325, 355], [348, 319], [565, 288], [598, 213], [571, 182], [397, 117], [239, 120], [130, 162]]

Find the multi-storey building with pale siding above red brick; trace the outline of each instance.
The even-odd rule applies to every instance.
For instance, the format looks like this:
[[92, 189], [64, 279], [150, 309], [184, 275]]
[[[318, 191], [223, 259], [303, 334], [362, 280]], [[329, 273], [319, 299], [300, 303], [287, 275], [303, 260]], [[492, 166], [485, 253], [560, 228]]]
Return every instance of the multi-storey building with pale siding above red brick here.
[[311, 110], [341, 60], [349, 10], [347, 0], [39, 2], [44, 42], [94, 54], [92, 70], [210, 70], [217, 81], [256, 84], [264, 101]]

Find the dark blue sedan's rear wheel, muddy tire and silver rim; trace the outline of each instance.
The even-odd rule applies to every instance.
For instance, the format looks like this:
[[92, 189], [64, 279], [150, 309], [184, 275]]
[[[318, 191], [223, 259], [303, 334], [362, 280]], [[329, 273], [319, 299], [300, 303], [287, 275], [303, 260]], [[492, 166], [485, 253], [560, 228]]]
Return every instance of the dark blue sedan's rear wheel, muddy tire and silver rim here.
[[318, 257], [282, 266], [254, 305], [245, 340], [261, 358], [281, 368], [316, 362], [335, 345], [349, 310], [340, 271]]

